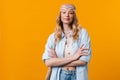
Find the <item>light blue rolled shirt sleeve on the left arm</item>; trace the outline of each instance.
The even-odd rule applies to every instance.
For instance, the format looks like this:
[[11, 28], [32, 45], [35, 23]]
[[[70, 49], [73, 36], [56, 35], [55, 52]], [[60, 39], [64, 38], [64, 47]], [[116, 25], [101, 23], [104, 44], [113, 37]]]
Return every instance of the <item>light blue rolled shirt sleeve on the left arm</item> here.
[[47, 43], [45, 45], [45, 50], [44, 50], [44, 53], [43, 53], [43, 56], [42, 56], [43, 61], [51, 58], [49, 56], [49, 51], [50, 51], [50, 48], [54, 48], [54, 45], [55, 45], [55, 43], [54, 43], [54, 33], [53, 33], [48, 37]]

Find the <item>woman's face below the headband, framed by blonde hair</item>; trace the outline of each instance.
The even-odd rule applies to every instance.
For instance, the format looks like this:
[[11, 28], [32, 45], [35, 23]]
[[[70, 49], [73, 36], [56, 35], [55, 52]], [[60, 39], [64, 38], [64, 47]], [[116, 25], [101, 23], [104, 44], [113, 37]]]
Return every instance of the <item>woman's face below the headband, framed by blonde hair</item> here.
[[70, 9], [61, 11], [61, 21], [63, 24], [70, 24], [73, 21], [74, 12]]

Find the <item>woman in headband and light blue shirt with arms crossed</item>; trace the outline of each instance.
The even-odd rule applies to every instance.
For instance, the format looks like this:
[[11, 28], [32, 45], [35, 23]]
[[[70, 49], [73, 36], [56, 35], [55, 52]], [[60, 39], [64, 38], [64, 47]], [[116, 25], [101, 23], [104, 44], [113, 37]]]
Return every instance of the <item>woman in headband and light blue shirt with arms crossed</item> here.
[[49, 36], [42, 57], [51, 68], [50, 80], [88, 80], [90, 38], [78, 24], [75, 6], [62, 5], [56, 23], [56, 31]]

